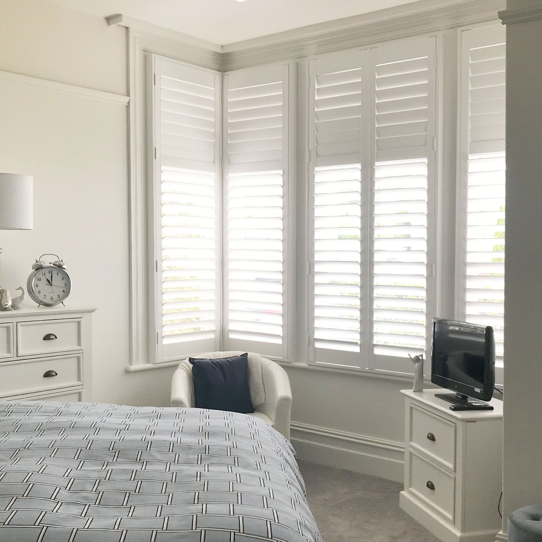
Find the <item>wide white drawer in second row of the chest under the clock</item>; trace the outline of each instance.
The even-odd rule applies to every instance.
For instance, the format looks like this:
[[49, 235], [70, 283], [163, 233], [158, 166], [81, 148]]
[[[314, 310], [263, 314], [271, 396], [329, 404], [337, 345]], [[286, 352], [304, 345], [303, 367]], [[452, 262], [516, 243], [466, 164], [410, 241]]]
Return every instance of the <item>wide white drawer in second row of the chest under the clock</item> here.
[[[0, 364], [0, 397], [80, 386], [83, 382], [82, 362], [82, 354], [4, 362]], [[45, 376], [48, 371], [56, 375]]]

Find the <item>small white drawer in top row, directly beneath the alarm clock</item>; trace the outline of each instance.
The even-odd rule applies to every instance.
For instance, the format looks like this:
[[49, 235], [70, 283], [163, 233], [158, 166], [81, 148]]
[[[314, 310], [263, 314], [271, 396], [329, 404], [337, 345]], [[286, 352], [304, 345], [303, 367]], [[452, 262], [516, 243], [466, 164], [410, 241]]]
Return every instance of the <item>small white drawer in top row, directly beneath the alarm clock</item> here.
[[17, 356], [35, 356], [80, 349], [80, 318], [17, 324]]

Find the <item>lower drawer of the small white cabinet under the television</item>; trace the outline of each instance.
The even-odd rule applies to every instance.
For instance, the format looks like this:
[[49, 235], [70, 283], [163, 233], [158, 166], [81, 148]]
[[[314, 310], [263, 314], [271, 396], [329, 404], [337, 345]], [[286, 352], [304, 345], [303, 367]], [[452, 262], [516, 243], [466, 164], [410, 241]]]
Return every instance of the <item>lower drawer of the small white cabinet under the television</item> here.
[[455, 476], [416, 454], [409, 454], [409, 490], [454, 522]]

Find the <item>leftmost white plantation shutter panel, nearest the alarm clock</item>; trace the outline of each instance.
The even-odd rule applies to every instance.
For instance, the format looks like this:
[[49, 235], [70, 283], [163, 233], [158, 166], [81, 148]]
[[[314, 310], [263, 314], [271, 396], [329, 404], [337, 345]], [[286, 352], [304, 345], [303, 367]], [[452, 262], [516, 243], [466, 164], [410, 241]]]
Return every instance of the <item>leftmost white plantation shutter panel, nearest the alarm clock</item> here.
[[216, 350], [219, 76], [153, 57], [158, 360]]

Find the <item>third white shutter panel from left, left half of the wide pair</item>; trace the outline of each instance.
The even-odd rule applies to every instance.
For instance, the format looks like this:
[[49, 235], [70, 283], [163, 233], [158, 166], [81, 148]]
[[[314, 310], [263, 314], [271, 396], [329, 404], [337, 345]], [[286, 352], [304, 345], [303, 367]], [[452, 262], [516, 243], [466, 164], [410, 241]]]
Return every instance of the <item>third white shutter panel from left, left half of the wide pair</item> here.
[[362, 56], [309, 63], [312, 154], [311, 361], [360, 366]]

